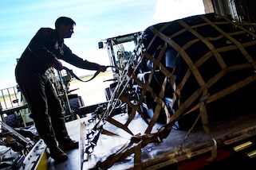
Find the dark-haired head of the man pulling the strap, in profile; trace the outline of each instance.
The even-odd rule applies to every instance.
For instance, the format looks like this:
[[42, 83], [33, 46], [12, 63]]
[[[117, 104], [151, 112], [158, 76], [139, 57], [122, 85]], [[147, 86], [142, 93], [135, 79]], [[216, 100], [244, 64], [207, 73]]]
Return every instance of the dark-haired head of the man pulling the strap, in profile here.
[[57, 18], [55, 21], [55, 29], [57, 29], [60, 39], [71, 37], [74, 25], [76, 25], [76, 22], [70, 17]]

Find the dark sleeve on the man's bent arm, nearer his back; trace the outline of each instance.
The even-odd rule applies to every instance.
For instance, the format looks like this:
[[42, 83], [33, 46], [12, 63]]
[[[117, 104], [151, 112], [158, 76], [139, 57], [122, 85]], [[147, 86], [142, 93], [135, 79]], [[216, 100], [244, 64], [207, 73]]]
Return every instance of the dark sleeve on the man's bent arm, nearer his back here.
[[29, 44], [30, 50], [36, 57], [39, 57], [42, 62], [49, 65], [53, 63], [53, 58], [56, 57], [53, 52], [50, 52], [45, 47], [45, 44], [50, 42], [52, 32], [53, 29], [49, 28], [39, 29]]

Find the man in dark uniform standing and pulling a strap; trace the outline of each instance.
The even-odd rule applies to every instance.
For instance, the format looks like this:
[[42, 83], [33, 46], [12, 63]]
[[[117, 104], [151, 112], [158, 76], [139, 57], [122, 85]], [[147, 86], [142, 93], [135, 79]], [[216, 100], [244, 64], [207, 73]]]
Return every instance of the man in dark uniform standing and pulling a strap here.
[[59, 17], [55, 22], [55, 29], [39, 29], [15, 68], [16, 80], [30, 106], [31, 118], [55, 162], [67, 160], [68, 156], [63, 150], [77, 149], [78, 142], [69, 137], [60, 102], [45, 76], [45, 71], [50, 67], [61, 71], [60, 60], [77, 68], [106, 70], [105, 66], [76, 56], [64, 44], [64, 39], [71, 37], [74, 25], [76, 23], [71, 18]]

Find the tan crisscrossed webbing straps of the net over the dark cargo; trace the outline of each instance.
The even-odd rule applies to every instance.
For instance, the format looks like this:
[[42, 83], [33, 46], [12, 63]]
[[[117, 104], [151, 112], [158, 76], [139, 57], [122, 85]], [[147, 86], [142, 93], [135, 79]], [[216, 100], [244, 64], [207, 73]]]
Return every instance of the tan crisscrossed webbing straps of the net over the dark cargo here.
[[[203, 129], [207, 134], [210, 135], [210, 129], [208, 127], [208, 118], [207, 118], [207, 104], [210, 102], [214, 102], [215, 100], [221, 99], [224, 96], [237, 91], [239, 88], [246, 86], [249, 83], [252, 83], [256, 80], [256, 75], [251, 75], [247, 78], [243, 78], [238, 83], [234, 83], [233, 85], [230, 85], [230, 87], [226, 87], [225, 89], [221, 89], [215, 94], [208, 94], [208, 90], [210, 87], [214, 86], [215, 83], [218, 83], [219, 79], [222, 79], [226, 73], [231, 71], [239, 71], [246, 68], [254, 68], [256, 70], [256, 63], [252, 59], [252, 57], [246, 52], [245, 47], [250, 46], [251, 43], [256, 43], [255, 41], [246, 42], [246, 43], [239, 43], [238, 41], [235, 41], [233, 37], [230, 36], [229, 33], [224, 33], [222, 29], [220, 29], [218, 26], [215, 26], [214, 22], [208, 21], [206, 17], [202, 17], [203, 20], [205, 20], [207, 23], [206, 25], [213, 26], [216, 30], [219, 31], [219, 33], [222, 33], [219, 37], [202, 37], [195, 31], [195, 26], [189, 26], [183, 21], [178, 21], [180, 25], [183, 26], [184, 29], [181, 29], [179, 32], [176, 32], [172, 34], [170, 37], [167, 37], [163, 33], [161, 33], [164, 29], [167, 29], [167, 27], [170, 25], [170, 23], [167, 23], [163, 25], [159, 30], [157, 30], [154, 26], [150, 27], [149, 29], [154, 33], [154, 37], [152, 37], [152, 40], [146, 47], [148, 50], [151, 48], [152, 44], [154, 44], [154, 41], [156, 38], [160, 38], [163, 41], [165, 41], [165, 44], [160, 44], [157, 48], [157, 50], [161, 50], [160, 54], [158, 56], [152, 56], [147, 51], [143, 53], [143, 57], [146, 57], [148, 60], [150, 60], [153, 63], [153, 68], [148, 75], [148, 82], [142, 82], [140, 79], [137, 79], [135, 75], [136, 68], [131, 68], [128, 71], [127, 75], [131, 77], [132, 79], [140, 86], [142, 87], [142, 91], [140, 93], [140, 99], [136, 102], [129, 101], [128, 97], [124, 94], [124, 88], [125, 85], [128, 83], [120, 83], [119, 89], [116, 90], [116, 94], [118, 95], [118, 98], [121, 99], [122, 102], [125, 102], [128, 104], [128, 106], [132, 109], [132, 113], [129, 115], [128, 121], [124, 124], [121, 124], [114, 120], [111, 117], [107, 118], [107, 121], [112, 123], [112, 125], [117, 126], [121, 129], [124, 129], [128, 133], [132, 134], [132, 131], [128, 129], [128, 125], [130, 122], [132, 122], [132, 118], [135, 117], [136, 112], [139, 112], [140, 114], [142, 111], [140, 110], [140, 105], [146, 95], [146, 93], [149, 93], [156, 103], [156, 108], [154, 110], [154, 115], [152, 119], [148, 122], [145, 118], [144, 121], [148, 124], [148, 129], [145, 131], [143, 135], [135, 135], [132, 136], [131, 140], [123, 145], [123, 147], [116, 153], [112, 154], [111, 156], [108, 156], [107, 159], [105, 159], [103, 162], [100, 162], [101, 168], [108, 168], [111, 167], [112, 164], [114, 164], [118, 160], [124, 160], [124, 158], [128, 155], [131, 155], [134, 153], [134, 167], [136, 169], [141, 169], [141, 149], [148, 145], [148, 143], [151, 142], [160, 142], [163, 138], [167, 137], [167, 135], [171, 132], [173, 123], [179, 120], [179, 118], [182, 118], [186, 114], [190, 114], [194, 110], [199, 110], [199, 115], [196, 121], [194, 122], [194, 125], [191, 129], [195, 126], [195, 123], [199, 120], [199, 118], [202, 118], [203, 122]], [[177, 44], [174, 40], [175, 37], [179, 36], [179, 34], [189, 31], [192, 33], [196, 38], [195, 40], [187, 42], [187, 44], [183, 44], [183, 47], [180, 47], [179, 44]], [[221, 48], [215, 48], [213, 44], [211, 44], [211, 41], [217, 41], [219, 39], [222, 39], [223, 37], [226, 37], [230, 41], [232, 41], [234, 44], [230, 44], [227, 47], [221, 47]], [[192, 44], [195, 42], [202, 41], [204, 44], [206, 44], [207, 48], [209, 48], [210, 52], [205, 53], [203, 56], [199, 57], [199, 60], [191, 60], [191, 57], [187, 55], [187, 48], [190, 48]], [[175, 48], [175, 50], [179, 53], [179, 56], [183, 58], [183, 60], [186, 62], [188, 68], [187, 72], [183, 76], [182, 81], [177, 84], [177, 87], [175, 86], [175, 80], [173, 79], [173, 72], [167, 71], [167, 69], [164, 67], [164, 65], [160, 62], [163, 56], [163, 52], [166, 50], [166, 44], [171, 45], [172, 48]], [[227, 52], [228, 50], [232, 49], [238, 49], [242, 52], [242, 54], [246, 57], [246, 60], [249, 61], [248, 64], [239, 64], [239, 65], [233, 65], [233, 66], [226, 66], [226, 63], [224, 62], [223, 58], [220, 56], [220, 52]], [[199, 67], [202, 64], [205, 64], [211, 57], [215, 57], [215, 59], [219, 63], [219, 67], [222, 68], [219, 73], [211, 77], [211, 79], [207, 80], [207, 82], [204, 82], [201, 72], [199, 72]], [[160, 94], [156, 94], [154, 89], [150, 86], [152, 83], [152, 77], [154, 75], [154, 71], [156, 71], [156, 67], [160, 68], [160, 71], [162, 71], [163, 75], [165, 75], [165, 79], [163, 80], [162, 88], [160, 90]], [[175, 68], [174, 68], [175, 69]], [[183, 103], [179, 103], [180, 98], [180, 91], [183, 91], [183, 87], [187, 83], [187, 80], [192, 76], [195, 76], [195, 80], [197, 83], [199, 83], [199, 88], [195, 89], [195, 91], [192, 93], [191, 96], [189, 96]], [[171, 80], [171, 85], [174, 87], [175, 94], [173, 95], [173, 102], [178, 103], [178, 108], [175, 110], [175, 114], [171, 115], [171, 118], [169, 122], [162, 126], [156, 133], [152, 133], [152, 127], [156, 123], [156, 118], [158, 118], [158, 114], [160, 114], [160, 110], [164, 110], [165, 113], [167, 113], [167, 106], [163, 102], [163, 94], [165, 92], [165, 85], [167, 79]], [[122, 87], [121, 87], [122, 86]], [[199, 100], [199, 101], [198, 101]], [[193, 103], [196, 103], [195, 106], [192, 106]], [[143, 116], [143, 114], [142, 114]], [[191, 132], [191, 130], [190, 130]], [[189, 132], [189, 133], [190, 133]], [[101, 133], [104, 133], [104, 131], [101, 131]], [[189, 135], [189, 133], [187, 135]], [[115, 135], [114, 133], [107, 133], [108, 135]], [[213, 141], [213, 149], [211, 151], [211, 158], [209, 160], [214, 160], [217, 156], [217, 142], [214, 138], [212, 138]]]

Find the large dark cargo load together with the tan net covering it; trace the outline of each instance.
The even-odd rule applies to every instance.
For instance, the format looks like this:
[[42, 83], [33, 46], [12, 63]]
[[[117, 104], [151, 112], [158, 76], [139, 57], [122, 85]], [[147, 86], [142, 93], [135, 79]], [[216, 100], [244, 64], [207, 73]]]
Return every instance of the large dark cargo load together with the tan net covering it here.
[[145, 29], [112, 99], [92, 127], [86, 153], [96, 149], [100, 137], [120, 138], [114, 152], [95, 168], [109, 168], [128, 156], [135, 168], [143, 168], [142, 149], [163, 141], [171, 129], [199, 123], [211, 133], [211, 121], [253, 106], [255, 100], [248, 96], [255, 96], [255, 37], [253, 24], [216, 14]]

